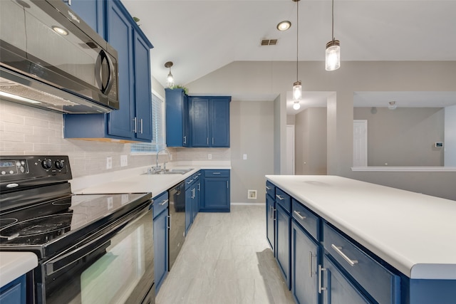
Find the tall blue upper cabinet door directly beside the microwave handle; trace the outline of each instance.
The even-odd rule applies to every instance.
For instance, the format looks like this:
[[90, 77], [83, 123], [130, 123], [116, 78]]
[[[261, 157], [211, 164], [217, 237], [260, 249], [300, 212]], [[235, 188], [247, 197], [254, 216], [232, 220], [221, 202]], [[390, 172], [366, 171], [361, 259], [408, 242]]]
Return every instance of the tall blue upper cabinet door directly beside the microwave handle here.
[[133, 26], [118, 1], [108, 1], [108, 43], [118, 51], [119, 110], [109, 112], [108, 134], [134, 138]]

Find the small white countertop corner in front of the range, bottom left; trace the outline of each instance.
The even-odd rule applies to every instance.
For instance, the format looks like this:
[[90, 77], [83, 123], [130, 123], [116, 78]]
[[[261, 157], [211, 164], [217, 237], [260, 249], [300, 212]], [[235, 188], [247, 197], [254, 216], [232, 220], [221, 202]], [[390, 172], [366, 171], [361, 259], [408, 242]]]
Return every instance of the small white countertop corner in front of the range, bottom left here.
[[38, 257], [31, 252], [0, 252], [0, 287], [38, 266]]

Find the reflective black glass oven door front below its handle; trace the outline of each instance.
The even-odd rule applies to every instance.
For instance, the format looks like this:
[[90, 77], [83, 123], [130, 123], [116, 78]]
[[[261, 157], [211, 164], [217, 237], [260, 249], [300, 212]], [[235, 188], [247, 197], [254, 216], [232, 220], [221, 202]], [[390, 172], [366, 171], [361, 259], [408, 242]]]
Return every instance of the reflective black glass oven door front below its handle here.
[[140, 303], [153, 283], [153, 226], [148, 212], [78, 261], [46, 276], [46, 303]]

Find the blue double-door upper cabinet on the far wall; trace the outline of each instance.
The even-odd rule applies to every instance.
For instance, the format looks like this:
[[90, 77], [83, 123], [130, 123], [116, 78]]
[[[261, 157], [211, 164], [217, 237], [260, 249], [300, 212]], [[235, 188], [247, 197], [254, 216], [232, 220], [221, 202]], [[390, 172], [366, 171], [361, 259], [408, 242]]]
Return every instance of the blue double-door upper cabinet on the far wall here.
[[229, 96], [190, 97], [192, 147], [229, 147]]

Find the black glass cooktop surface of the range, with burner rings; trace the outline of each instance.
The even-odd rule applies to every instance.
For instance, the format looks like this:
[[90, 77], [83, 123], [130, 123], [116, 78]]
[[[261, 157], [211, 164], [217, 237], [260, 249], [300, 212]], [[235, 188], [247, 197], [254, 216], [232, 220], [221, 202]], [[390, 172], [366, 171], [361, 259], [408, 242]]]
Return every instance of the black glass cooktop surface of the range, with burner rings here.
[[150, 194], [70, 195], [1, 214], [0, 249], [41, 246], [88, 226], [96, 230], [98, 223], [103, 226], [115, 220], [149, 197]]

